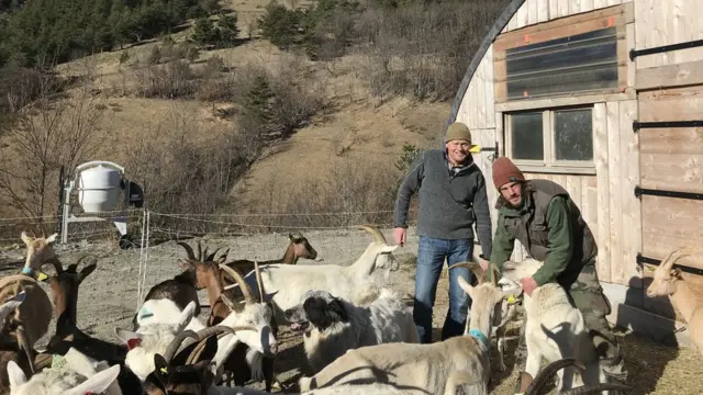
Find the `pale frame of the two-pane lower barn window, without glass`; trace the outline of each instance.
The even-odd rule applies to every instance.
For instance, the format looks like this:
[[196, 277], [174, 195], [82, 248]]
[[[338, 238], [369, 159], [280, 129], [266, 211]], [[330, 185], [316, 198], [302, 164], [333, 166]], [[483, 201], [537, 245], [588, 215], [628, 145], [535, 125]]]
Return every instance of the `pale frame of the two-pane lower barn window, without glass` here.
[[[556, 113], [559, 111], [569, 110], [584, 110], [591, 111], [591, 140], [592, 140], [592, 159], [591, 160], [558, 160], [556, 159], [556, 144], [554, 139], [556, 136]], [[542, 160], [533, 159], [515, 159], [513, 157], [513, 123], [512, 116], [514, 114], [524, 113], [542, 113], [542, 135], [543, 135], [543, 151], [544, 157]], [[593, 104], [563, 106], [563, 108], [549, 108], [549, 109], [534, 109], [525, 111], [515, 111], [503, 114], [504, 128], [505, 128], [505, 156], [510, 158], [515, 166], [523, 171], [535, 172], [577, 172], [577, 173], [595, 173], [595, 133], [593, 119]]]

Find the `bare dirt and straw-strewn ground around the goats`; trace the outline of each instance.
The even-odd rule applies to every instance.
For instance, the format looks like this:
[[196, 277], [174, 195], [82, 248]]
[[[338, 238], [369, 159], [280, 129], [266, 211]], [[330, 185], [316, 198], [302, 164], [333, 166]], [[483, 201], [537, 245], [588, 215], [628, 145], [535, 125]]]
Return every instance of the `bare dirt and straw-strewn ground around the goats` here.
[[[390, 230], [384, 232], [390, 239]], [[212, 247], [231, 247], [230, 258], [249, 257], [271, 259], [280, 257], [287, 244], [286, 235], [261, 235], [238, 238], [212, 238], [207, 245]], [[358, 257], [370, 238], [357, 230], [321, 230], [305, 233], [310, 242], [319, 252], [316, 261], [304, 260], [299, 264], [349, 264]], [[412, 303], [414, 287], [414, 263], [417, 250], [416, 236], [411, 228], [409, 241], [395, 255], [401, 262], [401, 269], [392, 274], [391, 286], [405, 295], [406, 302]], [[193, 244], [194, 241], [190, 241]], [[148, 250], [119, 250], [114, 245], [87, 245], [86, 242], [57, 246], [57, 251], [64, 264], [74, 262], [79, 253], [90, 252], [98, 257], [98, 269], [81, 284], [78, 301], [78, 326], [87, 334], [101, 339], [118, 341], [114, 328], [130, 328], [130, 320], [137, 306], [137, 290], [140, 282], [140, 256], [148, 253], [144, 280], [144, 294], [148, 287], [159, 281], [168, 279], [178, 272], [177, 258], [185, 257], [182, 248], [174, 241], [150, 247]], [[23, 261], [24, 249], [5, 249], [0, 252], [0, 268], [7, 275], [16, 270]], [[79, 268], [80, 269], [80, 268]], [[435, 339], [439, 337], [443, 319], [447, 311], [447, 275], [446, 270], [439, 282], [435, 307]], [[51, 291], [45, 287], [47, 292]], [[207, 304], [207, 295], [201, 295]], [[209, 314], [203, 308], [201, 318]], [[518, 318], [520, 319], [520, 318]], [[52, 323], [49, 334], [36, 345], [41, 349], [46, 339], [54, 332], [55, 321]], [[492, 349], [492, 368], [495, 381], [491, 384], [491, 394], [512, 394], [517, 371], [514, 369], [513, 352], [517, 341], [517, 327], [513, 325], [507, 334], [507, 352], [504, 373], [498, 371], [494, 358], [495, 346]], [[626, 369], [629, 371], [628, 383], [634, 385], [632, 394], [703, 394], [703, 364], [701, 356], [693, 349], [677, 349], [657, 343], [647, 338], [618, 331], [622, 341]], [[294, 384], [301, 374], [306, 372], [305, 359], [302, 350], [302, 339], [293, 336], [284, 327], [279, 332], [280, 351], [277, 357], [276, 372], [283, 384]], [[261, 388], [261, 383], [250, 383]], [[275, 391], [276, 392], [276, 391]]]

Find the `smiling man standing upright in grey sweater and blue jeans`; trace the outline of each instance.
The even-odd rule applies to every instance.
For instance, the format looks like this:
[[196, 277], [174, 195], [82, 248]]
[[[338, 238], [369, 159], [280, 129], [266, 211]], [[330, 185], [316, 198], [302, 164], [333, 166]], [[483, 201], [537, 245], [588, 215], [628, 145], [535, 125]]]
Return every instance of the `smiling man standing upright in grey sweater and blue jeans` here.
[[[422, 343], [432, 342], [432, 311], [445, 259], [447, 266], [451, 266], [470, 260], [473, 255], [473, 223], [482, 253], [491, 255], [486, 180], [469, 153], [476, 146], [471, 144], [471, 133], [457, 122], [448, 127], [445, 142], [445, 149], [428, 149], [417, 156], [395, 201], [393, 236], [395, 242], [403, 246], [410, 199], [420, 191], [413, 318]], [[467, 268], [449, 271], [449, 311], [442, 329], [443, 340], [462, 335], [468, 319], [471, 301], [459, 286], [459, 276], [471, 283]]]

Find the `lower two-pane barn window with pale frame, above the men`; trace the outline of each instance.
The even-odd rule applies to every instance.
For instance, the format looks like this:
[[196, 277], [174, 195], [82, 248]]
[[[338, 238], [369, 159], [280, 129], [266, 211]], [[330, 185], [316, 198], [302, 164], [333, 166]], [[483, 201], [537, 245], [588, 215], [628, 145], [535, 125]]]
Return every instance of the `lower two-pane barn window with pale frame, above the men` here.
[[506, 154], [527, 170], [593, 169], [592, 106], [506, 114]]

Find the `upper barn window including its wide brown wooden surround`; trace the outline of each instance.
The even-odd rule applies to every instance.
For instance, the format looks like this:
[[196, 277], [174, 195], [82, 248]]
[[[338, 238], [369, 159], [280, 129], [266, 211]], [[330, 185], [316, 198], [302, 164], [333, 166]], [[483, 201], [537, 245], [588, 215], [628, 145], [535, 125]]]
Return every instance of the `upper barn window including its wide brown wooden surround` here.
[[500, 34], [492, 46], [495, 102], [625, 92], [633, 22], [626, 2]]

